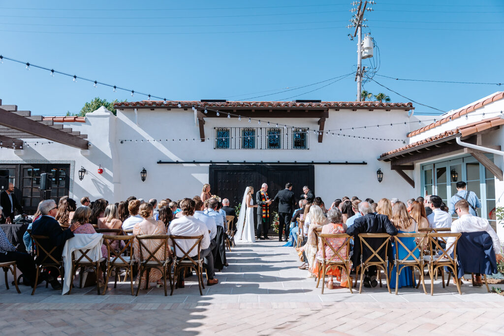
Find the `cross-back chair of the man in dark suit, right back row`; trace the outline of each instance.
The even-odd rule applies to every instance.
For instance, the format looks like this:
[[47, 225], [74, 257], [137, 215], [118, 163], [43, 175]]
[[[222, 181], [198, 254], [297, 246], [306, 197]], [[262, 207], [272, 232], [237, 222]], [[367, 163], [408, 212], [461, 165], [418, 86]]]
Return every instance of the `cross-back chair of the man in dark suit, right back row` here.
[[[377, 248], [373, 249], [369, 243], [368, 239], [383, 239], [383, 243]], [[362, 293], [362, 282], [364, 281], [364, 272], [370, 266], [376, 266], [377, 273], [380, 274], [381, 270], [385, 273], [385, 278], [387, 281], [387, 289], [390, 291], [390, 281], [389, 281], [389, 272], [387, 271], [388, 266], [388, 251], [389, 251], [389, 238], [390, 235], [388, 233], [359, 233], [359, 241], [360, 241], [360, 263], [355, 267], [355, 286], [357, 286], [357, 278], [360, 270], [360, 286], [359, 286], [359, 294]], [[363, 247], [367, 251], [370, 252], [370, 256], [367, 257], [366, 260], [362, 259], [362, 252], [364, 251]], [[385, 260], [382, 258], [380, 253], [384, 252]], [[373, 260], [374, 259], [374, 260]], [[380, 284], [382, 283], [380, 278]]]

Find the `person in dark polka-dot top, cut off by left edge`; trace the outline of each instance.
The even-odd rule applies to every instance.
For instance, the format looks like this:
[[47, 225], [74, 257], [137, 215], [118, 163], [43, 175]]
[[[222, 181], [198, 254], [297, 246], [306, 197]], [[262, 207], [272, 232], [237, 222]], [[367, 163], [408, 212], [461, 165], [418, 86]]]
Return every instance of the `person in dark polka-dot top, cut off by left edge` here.
[[[2, 207], [0, 207], [0, 215]], [[0, 228], [0, 262], [16, 261], [16, 267], [23, 274], [24, 282], [31, 287], [35, 284], [35, 262], [28, 253], [16, 251], [16, 247], [7, 239], [2, 228]]]

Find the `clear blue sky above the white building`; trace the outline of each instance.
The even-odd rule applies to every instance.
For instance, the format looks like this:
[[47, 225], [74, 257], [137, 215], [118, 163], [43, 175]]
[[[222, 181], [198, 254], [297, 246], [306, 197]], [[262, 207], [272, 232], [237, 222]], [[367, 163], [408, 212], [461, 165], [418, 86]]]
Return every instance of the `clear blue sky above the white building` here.
[[[327, 81], [355, 72], [356, 41], [346, 28], [350, 2], [0, 1], [0, 54], [171, 100], [354, 101], [354, 75]], [[387, 0], [372, 6], [364, 32], [380, 48], [374, 80], [444, 111], [504, 90], [378, 76], [504, 83], [504, 3], [478, 3]], [[3, 103], [33, 114], [77, 112], [96, 96], [146, 99], [26, 71], [9, 60], [0, 64], [0, 79]], [[374, 82], [364, 89], [409, 101]], [[414, 106], [416, 113], [440, 113]]]

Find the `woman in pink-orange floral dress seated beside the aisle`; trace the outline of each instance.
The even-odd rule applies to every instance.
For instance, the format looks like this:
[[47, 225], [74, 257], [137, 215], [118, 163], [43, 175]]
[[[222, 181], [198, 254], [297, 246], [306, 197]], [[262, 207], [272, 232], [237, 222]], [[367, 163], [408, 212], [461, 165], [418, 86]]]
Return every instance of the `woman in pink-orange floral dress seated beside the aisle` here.
[[[333, 208], [329, 210], [329, 212], [327, 213], [327, 220], [329, 221], [329, 223], [322, 227], [321, 232], [322, 234], [345, 233], [346, 228], [345, 225], [343, 224], [341, 212], [338, 208]], [[331, 245], [335, 251], [338, 251], [338, 249], [345, 243], [345, 241], [346, 241], [345, 238], [326, 239], [327, 244]], [[346, 258], [346, 250], [341, 250], [338, 253], [343, 258]], [[329, 246], [326, 246], [325, 254], [326, 254], [326, 260], [342, 261], [340, 257], [335, 255], [335, 253]], [[315, 256], [315, 260], [319, 259], [322, 259], [322, 239], [319, 240], [319, 250], [317, 251], [317, 255]], [[313, 263], [311, 273], [313, 273], [315, 276], [318, 276], [319, 268], [320, 268], [319, 262]], [[334, 286], [333, 276], [336, 277], [336, 280], [340, 282], [341, 287], [349, 286], [348, 274], [346, 270], [343, 270], [342, 272], [341, 268], [339, 267], [330, 267], [329, 270], [326, 272], [326, 275], [329, 278], [329, 281], [327, 282], [328, 289], [333, 289]]]

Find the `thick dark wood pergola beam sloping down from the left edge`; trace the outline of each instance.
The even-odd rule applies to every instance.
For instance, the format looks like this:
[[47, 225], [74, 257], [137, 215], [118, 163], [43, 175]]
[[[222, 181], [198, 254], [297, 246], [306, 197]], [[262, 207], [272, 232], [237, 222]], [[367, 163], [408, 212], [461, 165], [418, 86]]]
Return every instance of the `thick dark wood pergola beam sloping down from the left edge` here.
[[67, 146], [87, 150], [89, 142], [82, 138], [72, 136], [64, 131], [44, 125], [38, 121], [30, 120], [20, 115], [0, 108], [0, 125], [17, 129], [21, 132], [51, 140]]

